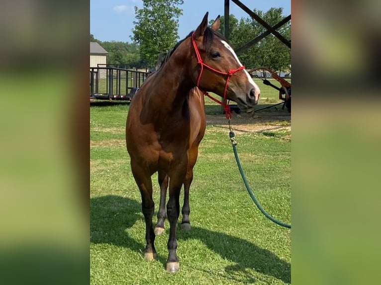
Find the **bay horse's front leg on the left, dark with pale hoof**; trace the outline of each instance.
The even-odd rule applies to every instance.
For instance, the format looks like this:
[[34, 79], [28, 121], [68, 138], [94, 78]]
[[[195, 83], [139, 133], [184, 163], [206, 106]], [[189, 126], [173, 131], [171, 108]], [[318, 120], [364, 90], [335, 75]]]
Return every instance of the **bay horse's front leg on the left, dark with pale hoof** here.
[[152, 226], [152, 217], [154, 215], [155, 203], [152, 200], [152, 180], [151, 175], [138, 163], [131, 160], [131, 170], [135, 182], [139, 187], [142, 196], [142, 212], [146, 223], [146, 249], [144, 258], [147, 261], [156, 259], [155, 233]]

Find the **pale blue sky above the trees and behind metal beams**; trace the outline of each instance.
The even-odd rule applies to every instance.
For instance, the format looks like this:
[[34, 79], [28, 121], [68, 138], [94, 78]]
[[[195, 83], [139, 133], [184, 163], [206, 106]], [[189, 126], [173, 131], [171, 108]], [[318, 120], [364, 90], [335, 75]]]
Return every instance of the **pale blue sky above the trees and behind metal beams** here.
[[[285, 16], [291, 13], [291, 0], [241, 0], [250, 9], [267, 11], [283, 7]], [[90, 0], [90, 33], [101, 41], [132, 42], [134, 6], [142, 7], [142, 0]], [[183, 15], [179, 18], [179, 36], [185, 38], [201, 22], [206, 12], [209, 20], [224, 13], [223, 0], [184, 0]], [[236, 18], [248, 15], [230, 1], [230, 14]]]

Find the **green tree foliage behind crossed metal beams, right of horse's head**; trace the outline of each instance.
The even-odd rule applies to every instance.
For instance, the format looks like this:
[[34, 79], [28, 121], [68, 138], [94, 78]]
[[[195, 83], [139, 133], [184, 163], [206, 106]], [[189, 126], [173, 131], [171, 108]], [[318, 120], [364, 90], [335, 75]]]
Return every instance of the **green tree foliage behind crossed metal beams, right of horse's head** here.
[[[276, 25], [283, 19], [283, 8], [270, 8], [267, 12], [254, 9], [254, 12], [271, 26]], [[220, 32], [223, 34], [223, 16], [220, 21]], [[242, 47], [251, 39], [266, 31], [266, 28], [251, 17], [237, 20], [233, 15], [229, 15], [229, 28], [229, 41], [234, 49]], [[290, 22], [279, 28], [278, 32], [286, 39], [290, 39]], [[270, 34], [239, 55], [239, 58], [247, 69], [267, 67], [274, 71], [286, 71], [289, 70], [291, 64], [291, 51], [278, 38]]]

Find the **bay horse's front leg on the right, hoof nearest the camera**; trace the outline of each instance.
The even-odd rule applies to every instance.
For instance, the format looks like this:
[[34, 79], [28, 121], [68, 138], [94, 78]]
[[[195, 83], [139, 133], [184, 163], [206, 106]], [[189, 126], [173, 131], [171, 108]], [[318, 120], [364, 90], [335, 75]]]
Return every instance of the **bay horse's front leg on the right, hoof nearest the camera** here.
[[175, 171], [170, 174], [169, 181], [169, 200], [167, 203], [167, 216], [170, 223], [170, 234], [168, 240], [168, 259], [166, 269], [168, 272], [178, 272], [180, 270], [180, 262], [177, 257], [177, 237], [176, 228], [180, 215], [180, 191], [183, 186], [187, 173], [187, 164], [181, 164]]

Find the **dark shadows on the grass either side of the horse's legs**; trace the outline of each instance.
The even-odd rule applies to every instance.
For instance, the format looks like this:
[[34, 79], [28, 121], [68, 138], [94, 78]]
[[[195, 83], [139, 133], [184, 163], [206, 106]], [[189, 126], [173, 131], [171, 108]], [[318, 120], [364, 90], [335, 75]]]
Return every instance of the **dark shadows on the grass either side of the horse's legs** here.
[[[128, 247], [136, 252], [143, 252], [145, 244], [136, 242], [125, 232], [134, 223], [141, 219], [141, 205], [139, 202], [119, 196], [103, 196], [90, 200], [90, 232], [92, 243], [107, 243]], [[154, 218], [155, 221], [155, 218]], [[142, 236], [145, 232], [141, 233]], [[267, 249], [260, 248], [244, 239], [215, 232], [200, 227], [192, 227], [185, 232], [178, 229], [178, 239], [199, 239], [210, 250], [222, 258], [230, 260], [236, 265], [225, 268], [231, 276], [239, 274], [247, 282], [255, 282], [251, 270], [273, 276], [285, 283], [291, 281], [291, 266]], [[179, 244], [181, 246], [181, 243]], [[158, 259], [165, 265], [166, 253], [158, 252]], [[212, 274], [212, 273], [210, 273]], [[231, 279], [231, 277], [230, 277]]]

